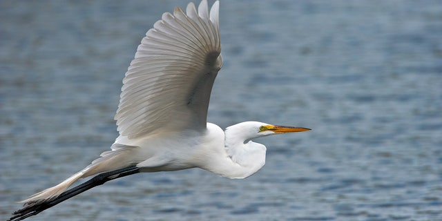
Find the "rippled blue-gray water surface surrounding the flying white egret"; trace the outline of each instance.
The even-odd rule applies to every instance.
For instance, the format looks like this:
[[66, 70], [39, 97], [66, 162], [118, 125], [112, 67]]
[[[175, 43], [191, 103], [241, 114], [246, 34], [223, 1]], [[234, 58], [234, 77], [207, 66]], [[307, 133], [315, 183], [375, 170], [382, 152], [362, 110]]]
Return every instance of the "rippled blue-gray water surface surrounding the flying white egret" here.
[[[2, 220], [108, 150], [137, 45], [185, 4], [0, 2]], [[245, 180], [137, 174], [32, 220], [442, 220], [441, 1], [223, 0], [220, 21], [209, 121], [313, 131], [257, 140]]]

